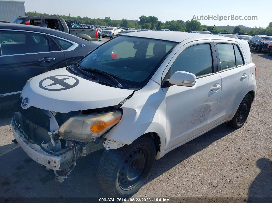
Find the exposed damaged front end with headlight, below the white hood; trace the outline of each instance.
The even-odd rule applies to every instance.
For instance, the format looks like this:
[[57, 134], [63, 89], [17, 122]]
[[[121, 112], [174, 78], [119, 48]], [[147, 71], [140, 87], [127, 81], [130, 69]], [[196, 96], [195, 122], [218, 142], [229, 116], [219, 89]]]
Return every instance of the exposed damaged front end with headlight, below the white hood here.
[[83, 156], [105, 148], [103, 136], [121, 117], [117, 106], [64, 114], [36, 107], [22, 109], [18, 103], [11, 127], [22, 149], [48, 172], [41, 181], [62, 182]]

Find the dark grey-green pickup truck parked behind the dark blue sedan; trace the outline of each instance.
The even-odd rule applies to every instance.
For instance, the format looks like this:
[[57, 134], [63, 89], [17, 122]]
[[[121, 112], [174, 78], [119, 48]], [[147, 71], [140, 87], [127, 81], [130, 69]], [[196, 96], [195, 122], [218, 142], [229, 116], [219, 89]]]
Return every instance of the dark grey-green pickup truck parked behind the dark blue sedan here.
[[[71, 21], [70, 21], [71, 22]], [[98, 32], [95, 29], [84, 28], [77, 22], [73, 24], [67, 23], [61, 17], [53, 16], [19, 16], [11, 23], [27, 24], [27, 25], [39, 25], [46, 24], [48, 28], [59, 30], [65, 33], [72, 34], [88, 41], [98, 41]], [[69, 26], [68, 26], [69, 25]], [[70, 27], [71, 26], [71, 27]]]

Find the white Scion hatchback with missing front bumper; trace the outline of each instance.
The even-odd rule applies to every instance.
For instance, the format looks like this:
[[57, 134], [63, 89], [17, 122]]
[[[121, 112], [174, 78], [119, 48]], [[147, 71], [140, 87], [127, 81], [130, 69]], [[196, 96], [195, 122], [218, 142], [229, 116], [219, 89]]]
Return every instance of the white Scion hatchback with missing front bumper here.
[[101, 186], [128, 197], [143, 186], [155, 159], [222, 123], [242, 127], [255, 75], [244, 40], [127, 33], [72, 66], [30, 79], [12, 130], [60, 182], [82, 157], [106, 149], [97, 169]]

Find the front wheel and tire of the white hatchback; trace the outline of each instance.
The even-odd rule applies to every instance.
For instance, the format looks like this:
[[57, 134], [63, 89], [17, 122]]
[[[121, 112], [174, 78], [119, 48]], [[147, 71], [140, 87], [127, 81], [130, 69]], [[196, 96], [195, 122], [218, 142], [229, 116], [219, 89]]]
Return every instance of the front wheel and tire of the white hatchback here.
[[98, 164], [98, 180], [110, 196], [130, 197], [146, 182], [156, 149], [149, 136], [114, 150], [105, 150]]

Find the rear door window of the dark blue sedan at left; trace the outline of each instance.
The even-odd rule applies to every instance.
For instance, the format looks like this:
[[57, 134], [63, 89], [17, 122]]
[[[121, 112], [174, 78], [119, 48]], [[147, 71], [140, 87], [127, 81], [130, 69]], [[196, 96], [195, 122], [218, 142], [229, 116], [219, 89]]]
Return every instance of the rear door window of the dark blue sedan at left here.
[[38, 33], [0, 31], [2, 55], [39, 53], [49, 51], [47, 38]]

